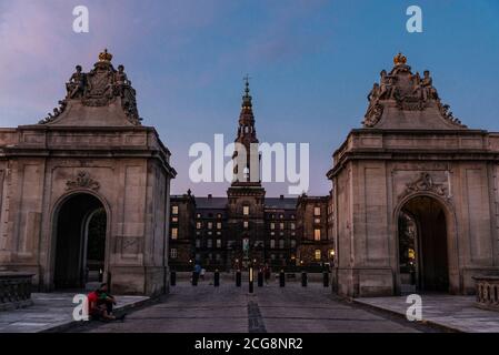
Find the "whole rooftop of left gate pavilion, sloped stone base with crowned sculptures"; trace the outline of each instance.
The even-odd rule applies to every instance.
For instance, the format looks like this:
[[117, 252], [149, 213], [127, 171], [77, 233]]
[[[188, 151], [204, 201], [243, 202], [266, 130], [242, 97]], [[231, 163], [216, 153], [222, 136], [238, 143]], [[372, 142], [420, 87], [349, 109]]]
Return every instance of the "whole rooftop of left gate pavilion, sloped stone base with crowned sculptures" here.
[[112, 54], [104, 50], [89, 72], [77, 65], [66, 83], [66, 98], [38, 123], [63, 126], [140, 125], [136, 91], [124, 73], [124, 67], [118, 65], [117, 70], [111, 60]]

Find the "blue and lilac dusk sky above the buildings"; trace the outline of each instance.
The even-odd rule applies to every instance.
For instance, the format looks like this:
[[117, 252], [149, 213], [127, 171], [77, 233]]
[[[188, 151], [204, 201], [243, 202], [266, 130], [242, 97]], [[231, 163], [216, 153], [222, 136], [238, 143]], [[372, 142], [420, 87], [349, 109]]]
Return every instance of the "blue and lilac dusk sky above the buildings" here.
[[[409, 6], [422, 32], [409, 33]], [[76, 6], [89, 32], [72, 30]], [[226, 195], [228, 183], [192, 183], [191, 144], [233, 141], [251, 77], [260, 142], [309, 143], [308, 194], [327, 194], [331, 155], [360, 128], [367, 94], [399, 51], [429, 69], [455, 116], [499, 131], [497, 0], [0, 0], [0, 126], [37, 123], [81, 64], [104, 48], [123, 64], [139, 113], [172, 153], [172, 193]], [[265, 184], [268, 196], [287, 183]]]

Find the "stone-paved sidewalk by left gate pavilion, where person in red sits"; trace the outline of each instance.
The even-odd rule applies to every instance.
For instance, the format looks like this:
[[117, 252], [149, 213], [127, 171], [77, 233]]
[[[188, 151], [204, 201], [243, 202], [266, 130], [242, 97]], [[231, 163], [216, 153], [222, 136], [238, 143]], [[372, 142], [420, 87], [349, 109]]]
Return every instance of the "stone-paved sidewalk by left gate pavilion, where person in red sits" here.
[[[73, 323], [74, 293], [33, 293], [33, 305], [0, 312], [0, 333], [62, 331]], [[117, 296], [117, 308], [138, 306], [149, 297]]]

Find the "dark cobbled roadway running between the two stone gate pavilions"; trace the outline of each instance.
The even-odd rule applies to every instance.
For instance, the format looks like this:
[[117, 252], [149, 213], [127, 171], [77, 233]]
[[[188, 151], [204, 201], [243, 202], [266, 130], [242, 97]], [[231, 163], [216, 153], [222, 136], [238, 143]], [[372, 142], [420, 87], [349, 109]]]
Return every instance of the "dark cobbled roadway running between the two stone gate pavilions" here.
[[124, 323], [87, 323], [72, 332], [420, 332], [433, 331], [397, 316], [366, 310], [335, 298], [330, 288], [298, 283], [280, 288], [271, 284], [238, 288], [213, 287], [207, 282], [193, 287], [179, 283], [160, 302], [130, 313]]

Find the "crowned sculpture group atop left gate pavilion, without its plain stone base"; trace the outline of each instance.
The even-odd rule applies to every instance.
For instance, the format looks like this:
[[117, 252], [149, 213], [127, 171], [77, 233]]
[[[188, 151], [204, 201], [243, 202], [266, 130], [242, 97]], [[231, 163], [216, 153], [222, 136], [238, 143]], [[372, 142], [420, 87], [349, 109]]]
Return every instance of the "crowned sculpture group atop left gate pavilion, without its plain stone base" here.
[[136, 91], [128, 80], [124, 67], [119, 65], [116, 70], [111, 60], [112, 54], [104, 50], [99, 54], [99, 61], [90, 72], [83, 73], [81, 65], [77, 65], [76, 72], [66, 83], [67, 95], [60, 101], [61, 106], [39, 121], [39, 124], [52, 122], [63, 112], [68, 102], [73, 100], [80, 101], [86, 106], [106, 106], [120, 98], [121, 109], [128, 120], [134, 125], [140, 125]]

